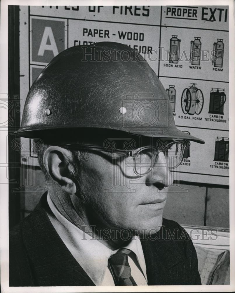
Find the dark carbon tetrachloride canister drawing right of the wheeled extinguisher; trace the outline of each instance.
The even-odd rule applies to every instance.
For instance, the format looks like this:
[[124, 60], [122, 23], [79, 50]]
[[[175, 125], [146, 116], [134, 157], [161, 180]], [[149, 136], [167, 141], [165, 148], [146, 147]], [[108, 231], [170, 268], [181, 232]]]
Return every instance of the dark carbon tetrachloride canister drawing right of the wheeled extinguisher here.
[[210, 114], [224, 115], [224, 103], [226, 102], [226, 95], [222, 88], [212, 88], [210, 91]]

